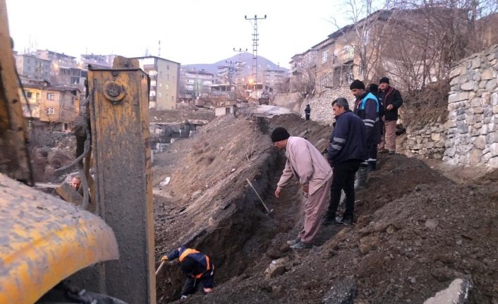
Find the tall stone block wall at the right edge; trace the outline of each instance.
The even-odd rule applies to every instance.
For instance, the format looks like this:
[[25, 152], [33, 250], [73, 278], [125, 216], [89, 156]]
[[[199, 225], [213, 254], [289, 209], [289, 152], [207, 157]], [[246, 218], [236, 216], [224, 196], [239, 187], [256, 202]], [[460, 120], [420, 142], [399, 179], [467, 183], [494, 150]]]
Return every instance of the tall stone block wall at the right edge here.
[[498, 168], [498, 44], [451, 71], [443, 160]]

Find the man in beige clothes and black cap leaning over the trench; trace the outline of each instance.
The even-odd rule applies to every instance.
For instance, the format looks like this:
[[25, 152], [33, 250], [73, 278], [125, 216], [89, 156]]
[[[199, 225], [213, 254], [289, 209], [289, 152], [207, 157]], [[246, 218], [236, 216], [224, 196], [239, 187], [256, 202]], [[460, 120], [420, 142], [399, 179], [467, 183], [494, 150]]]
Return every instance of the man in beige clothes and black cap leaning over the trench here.
[[320, 229], [320, 219], [327, 205], [332, 169], [320, 151], [308, 140], [291, 136], [281, 127], [275, 128], [271, 136], [274, 147], [285, 150], [287, 157], [275, 196], [280, 197], [283, 187], [289, 185], [292, 176], [296, 176], [306, 197], [303, 230], [295, 240], [287, 243], [294, 249], [312, 248], [313, 238]]

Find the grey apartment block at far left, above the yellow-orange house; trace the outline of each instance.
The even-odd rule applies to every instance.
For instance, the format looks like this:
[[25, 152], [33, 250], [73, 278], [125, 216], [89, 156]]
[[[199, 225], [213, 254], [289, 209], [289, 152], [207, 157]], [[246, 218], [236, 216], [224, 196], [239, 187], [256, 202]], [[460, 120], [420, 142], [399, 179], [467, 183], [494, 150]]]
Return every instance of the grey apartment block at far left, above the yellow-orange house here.
[[16, 54], [16, 68], [22, 78], [50, 80], [50, 61], [30, 54]]

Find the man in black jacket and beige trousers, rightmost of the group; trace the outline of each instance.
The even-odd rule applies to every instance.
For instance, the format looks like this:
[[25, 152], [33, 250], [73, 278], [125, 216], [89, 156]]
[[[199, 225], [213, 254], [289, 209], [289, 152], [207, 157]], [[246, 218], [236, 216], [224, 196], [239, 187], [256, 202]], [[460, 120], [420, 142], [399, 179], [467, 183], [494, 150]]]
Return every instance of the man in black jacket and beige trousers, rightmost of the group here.
[[396, 152], [396, 121], [398, 120], [398, 109], [403, 104], [401, 93], [389, 85], [389, 78], [383, 77], [379, 81], [379, 97], [384, 101], [384, 126], [385, 132], [379, 143], [379, 151], [385, 152], [386, 147], [389, 154]]

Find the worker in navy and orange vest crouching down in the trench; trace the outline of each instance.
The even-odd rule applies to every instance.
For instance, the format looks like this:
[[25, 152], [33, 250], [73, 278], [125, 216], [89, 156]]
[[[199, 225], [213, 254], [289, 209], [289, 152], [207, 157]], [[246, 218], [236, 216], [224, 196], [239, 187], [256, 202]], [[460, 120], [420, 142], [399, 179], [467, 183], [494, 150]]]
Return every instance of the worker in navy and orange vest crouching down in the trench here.
[[210, 293], [214, 287], [214, 265], [207, 255], [198, 250], [180, 247], [162, 257], [162, 261], [178, 258], [180, 269], [186, 275], [185, 284], [181, 288], [181, 298], [195, 293], [196, 286], [202, 283], [202, 291]]

